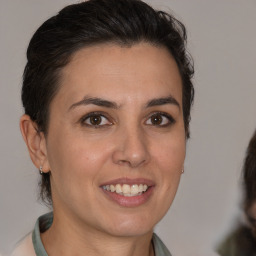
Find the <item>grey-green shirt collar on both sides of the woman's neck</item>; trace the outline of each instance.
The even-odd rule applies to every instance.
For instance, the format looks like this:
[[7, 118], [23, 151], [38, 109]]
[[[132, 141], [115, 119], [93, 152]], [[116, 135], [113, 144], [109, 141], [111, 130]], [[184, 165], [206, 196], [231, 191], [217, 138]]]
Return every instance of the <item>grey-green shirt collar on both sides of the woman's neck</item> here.
[[[53, 213], [47, 213], [37, 219], [32, 233], [33, 246], [37, 256], [48, 256], [41, 241], [40, 232], [46, 231], [52, 225]], [[161, 239], [154, 233], [152, 238], [155, 256], [171, 256]]]

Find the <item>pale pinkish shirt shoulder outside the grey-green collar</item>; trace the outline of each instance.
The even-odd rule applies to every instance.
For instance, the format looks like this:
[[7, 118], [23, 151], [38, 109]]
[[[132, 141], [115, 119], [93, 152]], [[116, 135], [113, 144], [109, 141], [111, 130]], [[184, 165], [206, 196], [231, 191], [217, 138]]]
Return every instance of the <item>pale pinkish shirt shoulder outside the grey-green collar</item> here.
[[11, 256], [36, 256], [33, 242], [32, 233], [23, 238], [16, 246]]

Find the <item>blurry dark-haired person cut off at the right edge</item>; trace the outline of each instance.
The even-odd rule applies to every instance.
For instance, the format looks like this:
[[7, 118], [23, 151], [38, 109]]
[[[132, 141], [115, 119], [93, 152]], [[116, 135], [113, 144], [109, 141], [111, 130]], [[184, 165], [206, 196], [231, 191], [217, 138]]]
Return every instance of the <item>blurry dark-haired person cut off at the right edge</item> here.
[[241, 224], [219, 246], [221, 256], [256, 255], [256, 130], [249, 142], [243, 166], [244, 212]]

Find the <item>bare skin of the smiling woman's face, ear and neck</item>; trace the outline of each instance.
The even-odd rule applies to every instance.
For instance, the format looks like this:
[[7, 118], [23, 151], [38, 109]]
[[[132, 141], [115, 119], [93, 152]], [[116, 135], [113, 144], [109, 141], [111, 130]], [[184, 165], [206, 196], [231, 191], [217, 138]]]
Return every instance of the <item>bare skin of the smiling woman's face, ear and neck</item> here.
[[[41, 234], [47, 253], [153, 255], [153, 228], [175, 197], [185, 158], [176, 62], [147, 43], [87, 47], [63, 68], [60, 84], [47, 136], [29, 116], [21, 118], [32, 161], [51, 171], [54, 221]], [[88, 118], [92, 112], [99, 125]], [[120, 205], [101, 188], [118, 178], [147, 179], [152, 193], [137, 206]]]

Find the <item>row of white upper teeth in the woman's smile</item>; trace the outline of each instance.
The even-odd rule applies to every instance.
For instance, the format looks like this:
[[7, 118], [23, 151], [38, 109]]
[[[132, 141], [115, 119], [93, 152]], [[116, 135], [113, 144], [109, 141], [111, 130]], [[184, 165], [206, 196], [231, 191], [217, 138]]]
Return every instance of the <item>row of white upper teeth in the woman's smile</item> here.
[[146, 192], [148, 189], [148, 186], [146, 184], [116, 184], [116, 185], [106, 185], [103, 186], [104, 190], [110, 191], [110, 192], [116, 192], [117, 194], [123, 195], [123, 196], [138, 196], [141, 195], [143, 192]]

